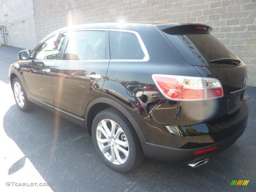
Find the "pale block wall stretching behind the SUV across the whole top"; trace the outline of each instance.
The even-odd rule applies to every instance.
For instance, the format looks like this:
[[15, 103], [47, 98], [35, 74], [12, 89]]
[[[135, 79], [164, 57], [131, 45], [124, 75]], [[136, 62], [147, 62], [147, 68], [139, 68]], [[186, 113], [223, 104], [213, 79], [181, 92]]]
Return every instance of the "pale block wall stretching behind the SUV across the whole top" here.
[[[34, 25], [31, 15], [32, 1], [36, 33], [32, 29]], [[1, 2], [5, 1], [0, 0], [0, 5]], [[13, 13], [16, 19], [13, 19], [12, 24], [20, 27], [16, 28], [15, 34], [18, 35], [19, 32], [28, 34], [29, 29], [31, 39], [36, 35], [37, 42], [50, 32], [71, 24], [119, 20], [208, 24], [214, 29], [212, 34], [247, 64], [249, 85], [256, 86], [256, 0], [8, 0], [8, 4], [11, 2], [14, 4], [26, 2], [29, 5], [16, 10], [22, 12], [18, 14], [20, 16]], [[5, 4], [2, 9], [6, 9]], [[26, 9], [28, 11], [24, 13]], [[1, 11], [0, 7], [1, 12], [5, 11]], [[20, 31], [24, 28], [19, 25], [24, 15], [27, 15], [27, 18], [31, 16], [31, 19], [26, 19], [24, 23], [27, 30]], [[20, 20], [17, 20], [18, 18]], [[0, 24], [1, 19], [4, 22], [5, 18], [0, 16]], [[8, 30], [10, 30], [9, 26]], [[10, 41], [12, 45], [17, 47], [23, 45], [21, 42], [14, 44], [15, 39], [17, 41], [15, 37], [8, 39], [13, 38]], [[29, 40], [26, 42], [24, 47], [27, 48], [32, 42]]]

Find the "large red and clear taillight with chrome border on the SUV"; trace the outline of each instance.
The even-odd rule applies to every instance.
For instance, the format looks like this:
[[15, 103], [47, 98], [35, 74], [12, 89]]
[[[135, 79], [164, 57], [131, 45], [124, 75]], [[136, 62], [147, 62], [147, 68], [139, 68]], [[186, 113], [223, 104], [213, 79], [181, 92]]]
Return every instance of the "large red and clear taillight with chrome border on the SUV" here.
[[207, 100], [223, 97], [218, 79], [153, 74], [152, 79], [159, 91], [171, 100]]

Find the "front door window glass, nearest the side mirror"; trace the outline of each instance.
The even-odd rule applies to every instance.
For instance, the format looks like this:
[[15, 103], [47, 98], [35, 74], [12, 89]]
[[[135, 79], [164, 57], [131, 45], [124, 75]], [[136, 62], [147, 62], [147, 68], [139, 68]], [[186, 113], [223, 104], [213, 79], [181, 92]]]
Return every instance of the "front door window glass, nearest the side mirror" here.
[[63, 39], [66, 33], [63, 33], [59, 44], [56, 44], [56, 36], [52, 36], [43, 42], [35, 50], [34, 59], [57, 59]]

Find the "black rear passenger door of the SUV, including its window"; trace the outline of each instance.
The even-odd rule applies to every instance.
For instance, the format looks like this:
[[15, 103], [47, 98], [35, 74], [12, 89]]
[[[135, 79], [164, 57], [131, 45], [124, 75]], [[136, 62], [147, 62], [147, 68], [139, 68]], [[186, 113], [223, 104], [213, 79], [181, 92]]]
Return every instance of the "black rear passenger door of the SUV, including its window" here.
[[88, 103], [100, 97], [109, 65], [109, 31], [73, 31], [54, 66], [52, 87], [55, 110], [83, 117]]

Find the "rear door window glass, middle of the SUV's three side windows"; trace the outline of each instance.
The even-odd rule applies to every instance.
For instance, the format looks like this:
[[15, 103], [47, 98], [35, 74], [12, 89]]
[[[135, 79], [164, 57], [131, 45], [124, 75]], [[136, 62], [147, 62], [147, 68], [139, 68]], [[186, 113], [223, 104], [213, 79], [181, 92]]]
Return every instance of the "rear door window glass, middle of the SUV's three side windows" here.
[[63, 59], [106, 59], [105, 31], [74, 31], [68, 41]]

